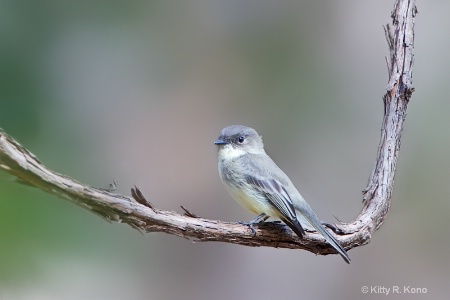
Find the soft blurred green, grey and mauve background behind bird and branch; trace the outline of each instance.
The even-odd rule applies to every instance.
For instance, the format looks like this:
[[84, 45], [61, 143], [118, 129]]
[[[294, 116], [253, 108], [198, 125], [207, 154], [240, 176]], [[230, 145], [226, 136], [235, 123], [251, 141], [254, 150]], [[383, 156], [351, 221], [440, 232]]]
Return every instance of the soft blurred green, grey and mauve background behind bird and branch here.
[[[321, 219], [352, 221], [379, 142], [393, 2], [0, 1], [0, 127], [84, 183], [240, 221], [254, 216], [223, 188], [213, 141], [251, 126]], [[450, 2], [417, 5], [391, 210], [351, 265], [142, 235], [1, 172], [0, 299], [383, 297], [363, 286], [446, 299]]]

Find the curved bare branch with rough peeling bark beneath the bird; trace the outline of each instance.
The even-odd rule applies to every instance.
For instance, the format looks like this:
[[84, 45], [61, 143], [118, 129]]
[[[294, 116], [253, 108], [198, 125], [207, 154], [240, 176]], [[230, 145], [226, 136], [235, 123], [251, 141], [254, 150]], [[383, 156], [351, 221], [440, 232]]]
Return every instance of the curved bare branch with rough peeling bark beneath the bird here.
[[[414, 0], [398, 0], [391, 15], [392, 24], [384, 27], [390, 50], [389, 81], [383, 97], [384, 118], [376, 164], [363, 192], [362, 212], [355, 221], [339, 223], [334, 228], [338, 240], [347, 250], [369, 243], [389, 210], [406, 108], [414, 91], [411, 84], [416, 13]], [[82, 184], [46, 168], [1, 129], [0, 168], [109, 221], [126, 223], [144, 232], [165, 232], [198, 241], [252, 247], [305, 249], [321, 255], [336, 253], [316, 232], [309, 232], [300, 239], [284, 224], [268, 222], [256, 225], [254, 234], [245, 225], [199, 218], [184, 207], [184, 215], [157, 209], [136, 187], [132, 189], [133, 197], [127, 197]]]

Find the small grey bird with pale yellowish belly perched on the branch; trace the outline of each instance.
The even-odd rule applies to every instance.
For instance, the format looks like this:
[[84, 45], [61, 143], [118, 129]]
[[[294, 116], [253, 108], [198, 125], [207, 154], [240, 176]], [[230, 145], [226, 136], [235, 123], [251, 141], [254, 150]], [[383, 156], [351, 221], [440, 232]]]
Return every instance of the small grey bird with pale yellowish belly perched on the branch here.
[[262, 137], [242, 125], [225, 127], [214, 142], [219, 148], [219, 175], [231, 196], [258, 215], [250, 226], [269, 217], [279, 218], [300, 238], [303, 218], [350, 263], [347, 252], [322, 225], [289, 177], [264, 151]]

